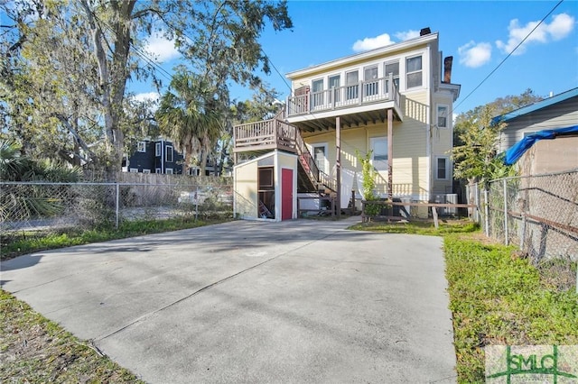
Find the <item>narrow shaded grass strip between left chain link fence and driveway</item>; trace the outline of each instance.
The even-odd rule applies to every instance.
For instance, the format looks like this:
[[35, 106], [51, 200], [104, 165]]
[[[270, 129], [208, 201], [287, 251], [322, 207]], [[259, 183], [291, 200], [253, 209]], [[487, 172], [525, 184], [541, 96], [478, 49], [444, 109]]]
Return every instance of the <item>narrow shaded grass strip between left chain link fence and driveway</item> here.
[[69, 230], [61, 233], [13, 233], [2, 235], [0, 259], [7, 260], [36, 251], [53, 250], [91, 242], [107, 242], [151, 233], [163, 233], [199, 226], [223, 223], [228, 220], [195, 220], [177, 217], [166, 220], [125, 221], [114, 227], [101, 227], [87, 231]]

